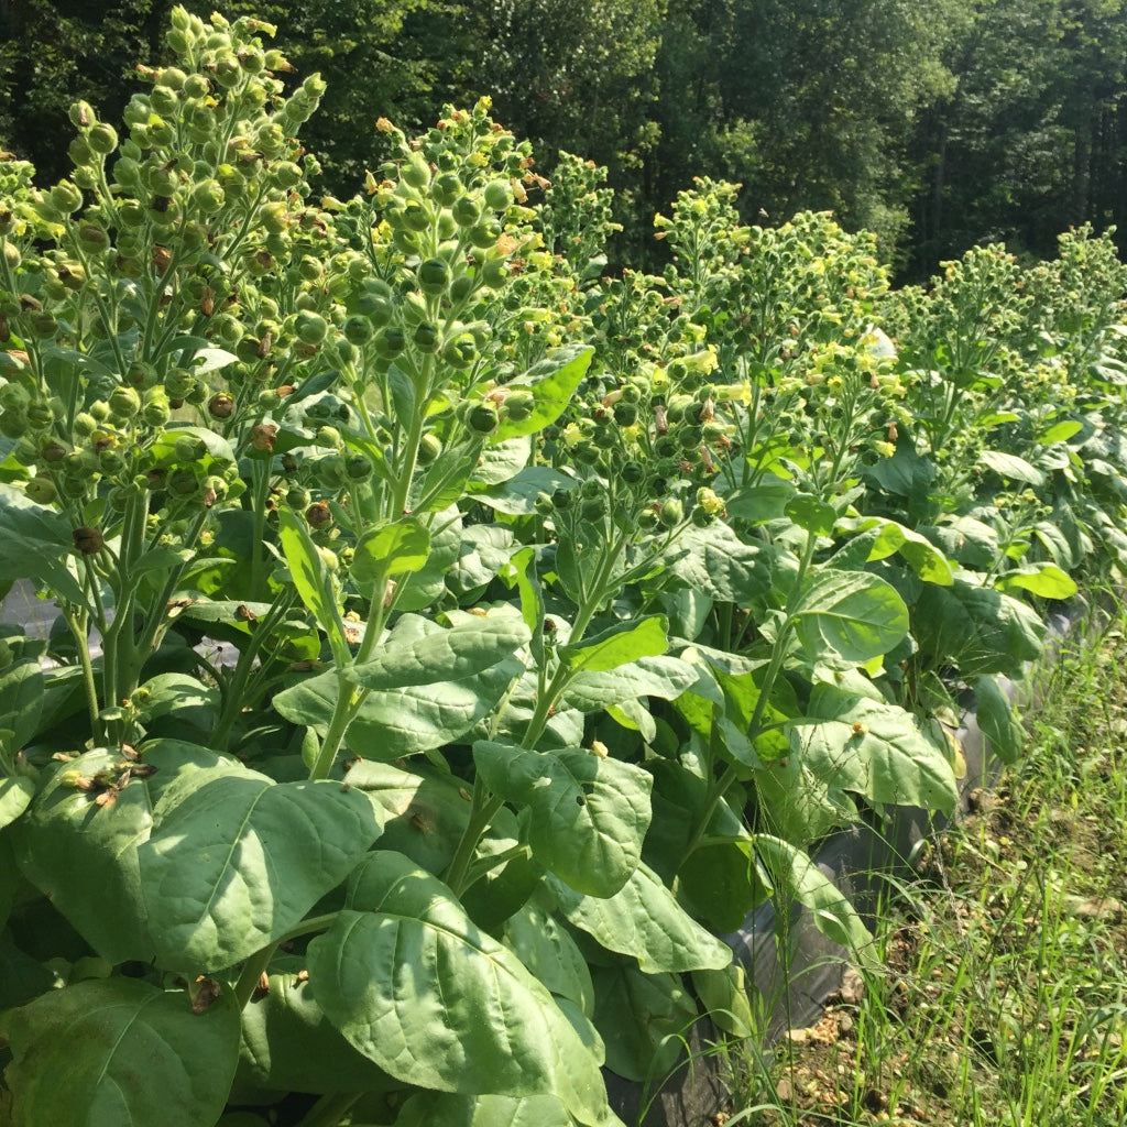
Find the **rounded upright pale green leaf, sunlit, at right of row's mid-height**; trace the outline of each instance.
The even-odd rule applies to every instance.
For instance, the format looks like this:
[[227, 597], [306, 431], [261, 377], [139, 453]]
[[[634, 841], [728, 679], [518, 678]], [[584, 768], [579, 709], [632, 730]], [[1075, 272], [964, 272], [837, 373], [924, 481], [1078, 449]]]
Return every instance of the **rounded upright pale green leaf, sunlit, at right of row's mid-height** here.
[[867, 571], [815, 571], [793, 621], [807, 657], [816, 663], [836, 655], [861, 665], [884, 657], [908, 632], [904, 600], [890, 584]]

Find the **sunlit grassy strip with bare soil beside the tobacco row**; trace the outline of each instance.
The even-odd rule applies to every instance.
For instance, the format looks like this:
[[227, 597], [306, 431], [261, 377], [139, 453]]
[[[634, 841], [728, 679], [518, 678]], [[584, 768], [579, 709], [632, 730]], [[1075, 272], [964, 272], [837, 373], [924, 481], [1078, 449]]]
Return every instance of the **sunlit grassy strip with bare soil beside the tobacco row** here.
[[1127, 612], [1041, 700], [1022, 762], [890, 890], [881, 969], [743, 1062], [717, 1124], [1127, 1121]]

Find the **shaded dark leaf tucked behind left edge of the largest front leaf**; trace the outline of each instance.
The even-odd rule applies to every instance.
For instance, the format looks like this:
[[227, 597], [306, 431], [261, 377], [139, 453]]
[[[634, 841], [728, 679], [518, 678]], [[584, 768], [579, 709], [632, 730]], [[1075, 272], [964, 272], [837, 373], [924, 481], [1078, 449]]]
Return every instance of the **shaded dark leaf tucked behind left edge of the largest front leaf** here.
[[289, 970], [272, 970], [268, 987], [242, 1011], [240, 1077], [256, 1088], [287, 1092], [370, 1092], [398, 1081], [357, 1053], [326, 1018], [304, 959]]

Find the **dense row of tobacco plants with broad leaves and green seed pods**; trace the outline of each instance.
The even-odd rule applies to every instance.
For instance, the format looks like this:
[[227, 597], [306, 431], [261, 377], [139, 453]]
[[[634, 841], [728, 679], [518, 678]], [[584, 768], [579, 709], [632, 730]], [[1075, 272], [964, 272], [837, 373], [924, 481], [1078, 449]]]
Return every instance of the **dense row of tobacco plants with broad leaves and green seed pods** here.
[[55, 615], [0, 639], [0, 1107], [616, 1122], [604, 1070], [753, 1036], [716, 932], [798, 897], [864, 957], [809, 850], [953, 807], [942, 686], [1015, 752], [1046, 529], [1119, 515], [1120, 275], [897, 298], [702, 180], [600, 278], [601, 170], [487, 101], [318, 198], [272, 33], [176, 9], [121, 132], [0, 166], [0, 580]]

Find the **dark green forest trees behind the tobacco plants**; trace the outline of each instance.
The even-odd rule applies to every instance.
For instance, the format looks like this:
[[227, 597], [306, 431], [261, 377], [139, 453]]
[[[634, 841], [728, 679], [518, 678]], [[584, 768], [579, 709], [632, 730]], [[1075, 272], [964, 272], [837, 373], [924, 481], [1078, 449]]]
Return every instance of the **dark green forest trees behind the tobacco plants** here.
[[[379, 117], [426, 127], [492, 99], [550, 177], [605, 166], [611, 265], [659, 264], [656, 212], [694, 177], [742, 185], [745, 222], [832, 211], [905, 281], [977, 243], [1031, 258], [1124, 227], [1124, 0], [189, 0], [277, 25], [328, 94], [302, 140], [347, 198], [388, 156]], [[163, 61], [170, 0], [2, 0], [0, 145], [66, 172], [76, 97], [113, 116]], [[1121, 242], [1120, 242], [1121, 249]], [[615, 263], [615, 259], [618, 260]]]

